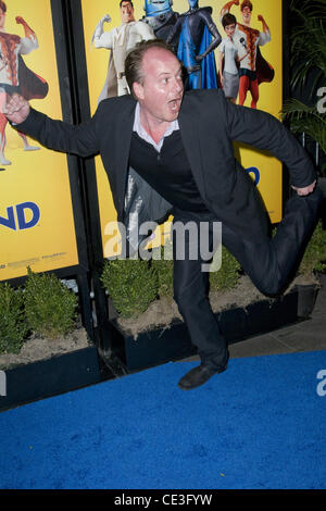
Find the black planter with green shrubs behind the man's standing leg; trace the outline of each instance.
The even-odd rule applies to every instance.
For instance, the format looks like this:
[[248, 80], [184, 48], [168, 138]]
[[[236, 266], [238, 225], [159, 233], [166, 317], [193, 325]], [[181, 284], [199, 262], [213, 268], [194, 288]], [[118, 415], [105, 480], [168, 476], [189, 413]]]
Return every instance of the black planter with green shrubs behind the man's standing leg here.
[[[127, 371], [196, 353], [173, 299], [171, 259], [106, 260], [102, 284], [109, 295], [109, 309], [115, 311], [111, 315], [112, 349]], [[281, 297], [264, 297], [225, 247], [221, 269], [210, 273], [209, 298], [229, 344], [298, 320], [296, 286]]]

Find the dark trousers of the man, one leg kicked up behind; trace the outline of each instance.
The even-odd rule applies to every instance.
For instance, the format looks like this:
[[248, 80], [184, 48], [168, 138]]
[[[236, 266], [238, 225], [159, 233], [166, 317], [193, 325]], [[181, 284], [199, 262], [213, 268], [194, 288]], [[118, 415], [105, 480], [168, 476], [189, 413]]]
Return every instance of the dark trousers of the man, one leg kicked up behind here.
[[[272, 238], [266, 234], [263, 239], [256, 241], [243, 239], [226, 225], [222, 225], [223, 245], [235, 256], [244, 273], [264, 295], [275, 296], [287, 284], [316, 225], [322, 200], [323, 195], [317, 188], [306, 197], [293, 195], [288, 200], [283, 221]], [[227, 362], [228, 349], [209, 302], [209, 273], [202, 271], [204, 261], [200, 253], [196, 259], [193, 252], [190, 253], [193, 239], [190, 244], [187, 230], [185, 253], [181, 259], [178, 258], [176, 247], [179, 232], [175, 228], [177, 222], [184, 225], [195, 222], [197, 232], [200, 233], [200, 223], [206, 223], [212, 250], [214, 221], [218, 222], [218, 219], [212, 214], [174, 209], [174, 298], [202, 362], [218, 366]]]

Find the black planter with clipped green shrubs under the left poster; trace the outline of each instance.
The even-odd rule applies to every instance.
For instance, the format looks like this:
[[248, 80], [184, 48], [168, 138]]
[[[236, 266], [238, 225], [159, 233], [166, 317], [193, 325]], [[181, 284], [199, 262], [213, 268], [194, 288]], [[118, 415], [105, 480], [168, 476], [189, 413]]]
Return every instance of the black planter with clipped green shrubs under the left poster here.
[[100, 381], [98, 353], [78, 324], [77, 298], [54, 274], [28, 270], [24, 287], [0, 283], [0, 410]]

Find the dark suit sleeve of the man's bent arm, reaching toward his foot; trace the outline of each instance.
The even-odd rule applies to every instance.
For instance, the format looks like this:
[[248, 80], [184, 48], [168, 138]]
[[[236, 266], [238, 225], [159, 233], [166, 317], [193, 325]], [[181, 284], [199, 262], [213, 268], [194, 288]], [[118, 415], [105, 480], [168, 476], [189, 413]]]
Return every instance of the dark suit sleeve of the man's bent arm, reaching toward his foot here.
[[291, 185], [303, 188], [316, 178], [313, 164], [293, 135], [273, 115], [224, 101], [229, 137], [258, 149], [267, 150], [284, 162]]

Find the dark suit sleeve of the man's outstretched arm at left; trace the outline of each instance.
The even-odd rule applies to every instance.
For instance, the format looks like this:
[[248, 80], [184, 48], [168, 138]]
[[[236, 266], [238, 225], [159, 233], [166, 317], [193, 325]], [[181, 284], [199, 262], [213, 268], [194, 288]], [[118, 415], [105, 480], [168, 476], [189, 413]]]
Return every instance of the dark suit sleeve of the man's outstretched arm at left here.
[[99, 152], [97, 113], [78, 126], [54, 121], [30, 109], [28, 117], [15, 128], [38, 140], [42, 146], [60, 152], [90, 157]]

